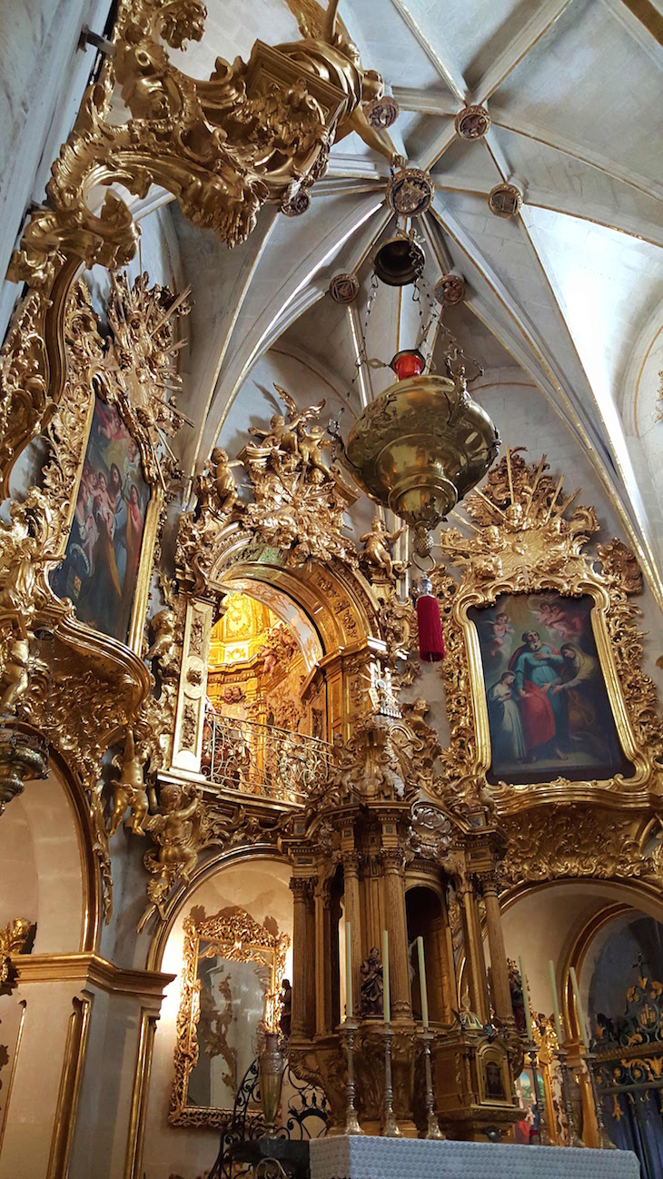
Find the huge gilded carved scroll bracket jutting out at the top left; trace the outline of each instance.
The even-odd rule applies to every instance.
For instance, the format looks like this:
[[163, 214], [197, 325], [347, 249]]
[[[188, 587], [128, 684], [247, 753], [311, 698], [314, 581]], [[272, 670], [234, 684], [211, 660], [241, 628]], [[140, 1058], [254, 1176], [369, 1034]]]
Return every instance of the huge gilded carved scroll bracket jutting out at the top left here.
[[[362, 105], [381, 95], [382, 79], [362, 68], [356, 47], [336, 31], [335, 2], [320, 35], [276, 48], [256, 41], [248, 62], [218, 58], [211, 78], [197, 81], [172, 65], [166, 46], [199, 40], [204, 17], [198, 0], [119, 5], [114, 53], [84, 95], [53, 164], [47, 204], [31, 213], [8, 271], [31, 288], [19, 329], [25, 347], [7, 374], [7, 420], [20, 446], [61, 401], [60, 323], [80, 265], [117, 270], [136, 252], [139, 230], [113, 183], [139, 197], [162, 185], [193, 224], [232, 246], [265, 202], [284, 211], [306, 203], [344, 134], [357, 131], [390, 156]], [[118, 99], [129, 112], [124, 123]], [[9, 436], [0, 448], [5, 476], [15, 454]]]

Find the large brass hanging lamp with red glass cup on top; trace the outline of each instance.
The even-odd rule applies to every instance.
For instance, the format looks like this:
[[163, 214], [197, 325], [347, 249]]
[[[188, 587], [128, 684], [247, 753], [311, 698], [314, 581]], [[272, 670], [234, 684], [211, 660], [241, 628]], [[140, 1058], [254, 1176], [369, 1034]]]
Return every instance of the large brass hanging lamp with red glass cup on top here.
[[344, 449], [359, 486], [422, 540], [484, 477], [499, 437], [462, 373], [422, 374], [419, 356], [406, 349], [394, 357], [405, 378], [366, 407]]

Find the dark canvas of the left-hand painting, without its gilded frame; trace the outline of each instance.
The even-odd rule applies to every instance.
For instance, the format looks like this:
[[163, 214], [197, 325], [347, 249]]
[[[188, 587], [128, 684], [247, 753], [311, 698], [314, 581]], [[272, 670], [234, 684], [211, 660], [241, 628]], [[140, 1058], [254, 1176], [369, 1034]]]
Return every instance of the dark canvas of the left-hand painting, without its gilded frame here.
[[120, 643], [129, 635], [149, 500], [136, 441], [117, 408], [97, 397], [65, 559], [51, 584], [71, 598], [81, 623]]

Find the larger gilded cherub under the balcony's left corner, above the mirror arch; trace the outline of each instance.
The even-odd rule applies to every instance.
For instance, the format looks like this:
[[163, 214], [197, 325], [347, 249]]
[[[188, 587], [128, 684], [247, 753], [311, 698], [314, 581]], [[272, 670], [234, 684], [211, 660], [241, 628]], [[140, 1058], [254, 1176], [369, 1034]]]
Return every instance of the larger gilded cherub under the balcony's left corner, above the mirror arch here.
[[[182, 878], [185, 884], [198, 858], [203, 804], [193, 783], [184, 786], [163, 785], [159, 802], [153, 788], [150, 789], [150, 816], [144, 826], [152, 836], [158, 850], [151, 849], [143, 862], [153, 880], [147, 884], [147, 896], [162, 921], [165, 921], [165, 898]], [[147, 910], [140, 927], [153, 910]]]

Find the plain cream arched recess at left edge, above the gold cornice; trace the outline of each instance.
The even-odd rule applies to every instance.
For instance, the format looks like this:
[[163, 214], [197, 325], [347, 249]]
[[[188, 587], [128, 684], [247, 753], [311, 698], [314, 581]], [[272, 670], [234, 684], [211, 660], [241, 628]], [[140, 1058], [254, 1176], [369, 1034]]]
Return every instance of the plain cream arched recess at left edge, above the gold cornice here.
[[0, 818], [0, 927], [37, 922], [34, 954], [93, 948], [97, 882], [84, 830], [73, 788], [53, 764]]

